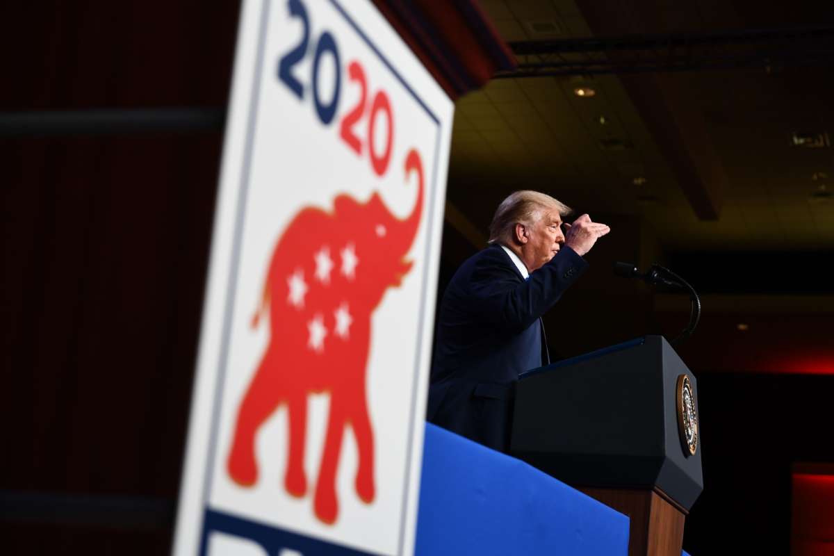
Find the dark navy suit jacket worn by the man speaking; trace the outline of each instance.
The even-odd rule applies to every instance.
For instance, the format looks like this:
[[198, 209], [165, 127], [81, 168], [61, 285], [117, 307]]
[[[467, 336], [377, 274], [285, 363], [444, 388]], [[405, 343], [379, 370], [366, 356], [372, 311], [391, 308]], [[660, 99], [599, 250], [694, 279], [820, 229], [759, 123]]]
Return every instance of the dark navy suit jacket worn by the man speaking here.
[[506, 452], [515, 382], [543, 363], [540, 317], [585, 268], [568, 247], [526, 281], [498, 244], [467, 259], [440, 304], [428, 420]]

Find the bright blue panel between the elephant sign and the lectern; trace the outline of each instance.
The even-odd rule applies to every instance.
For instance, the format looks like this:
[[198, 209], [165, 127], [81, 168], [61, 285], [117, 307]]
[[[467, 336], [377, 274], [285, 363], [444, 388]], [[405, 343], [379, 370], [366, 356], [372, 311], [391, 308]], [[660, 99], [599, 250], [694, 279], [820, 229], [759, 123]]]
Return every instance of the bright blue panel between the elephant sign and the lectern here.
[[426, 424], [416, 554], [628, 553], [629, 519], [516, 458]]

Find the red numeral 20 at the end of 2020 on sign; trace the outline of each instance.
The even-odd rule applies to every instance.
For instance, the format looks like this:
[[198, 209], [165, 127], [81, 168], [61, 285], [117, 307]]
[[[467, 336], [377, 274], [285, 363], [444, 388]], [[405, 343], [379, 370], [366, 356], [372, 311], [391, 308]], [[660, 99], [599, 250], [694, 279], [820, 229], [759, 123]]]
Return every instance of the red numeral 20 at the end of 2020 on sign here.
[[[356, 154], [361, 155], [362, 141], [356, 136], [354, 126], [362, 119], [365, 108], [367, 108], [365, 101], [368, 98], [368, 84], [365, 80], [364, 70], [358, 62], [351, 62], [348, 66], [348, 78], [350, 81], [359, 83], [359, 102], [349, 113], [345, 114], [339, 135], [344, 143], [348, 144], [349, 148], [352, 148]], [[376, 128], [376, 118], [380, 113], [388, 119], [388, 138], [385, 141], [385, 150], [381, 154], [374, 152], [374, 130]], [[365, 143], [368, 145], [370, 164], [376, 175], [381, 176], [391, 162], [391, 146], [394, 143], [394, 117], [391, 115], [391, 103], [388, 100], [388, 95], [384, 91], [377, 91], [374, 95], [374, 101], [370, 105], [367, 141]]]

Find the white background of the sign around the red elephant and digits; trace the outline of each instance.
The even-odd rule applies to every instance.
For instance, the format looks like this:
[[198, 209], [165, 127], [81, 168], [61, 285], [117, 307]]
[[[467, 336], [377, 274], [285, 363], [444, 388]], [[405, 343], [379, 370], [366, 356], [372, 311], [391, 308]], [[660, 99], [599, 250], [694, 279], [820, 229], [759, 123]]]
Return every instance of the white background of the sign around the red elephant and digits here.
[[[413, 549], [453, 106], [369, 3], [305, 0], [304, 7], [309, 16], [309, 53], [292, 69], [304, 85], [304, 98], [299, 99], [279, 80], [277, 68], [279, 59], [301, 41], [301, 20], [290, 16], [285, 0], [244, 2], [176, 553], [197, 551], [206, 508], [374, 553], [411, 553]], [[349, 13], [344, 7], [349, 7]], [[326, 126], [316, 115], [310, 77], [316, 40], [324, 31], [334, 36], [342, 67], [336, 116]], [[381, 178], [371, 169], [367, 145], [358, 155], [339, 138], [341, 118], [359, 99], [359, 86], [349, 81], [346, 71], [354, 60], [364, 68], [368, 102], [379, 90], [390, 99], [394, 143], [389, 169]], [[325, 55], [319, 68], [319, 98], [324, 103], [332, 98], [334, 70], [333, 58]], [[367, 114], [354, 127], [363, 143], [368, 137]], [[384, 151], [386, 130], [386, 119], [376, 118], [376, 153]], [[308, 493], [304, 498], [284, 492], [285, 406], [264, 423], [256, 438], [258, 482], [242, 488], [226, 472], [239, 403], [269, 334], [269, 319], [257, 329], [249, 323], [259, 306], [276, 242], [300, 209], [330, 212], [340, 193], [364, 203], [378, 192], [399, 218], [411, 212], [417, 182], [415, 175], [406, 180], [404, 173], [409, 148], [419, 151], [425, 175], [420, 230], [407, 256], [414, 266], [399, 287], [387, 290], [372, 314], [367, 393], [374, 431], [376, 497], [372, 503], [363, 503], [355, 492], [358, 457], [354, 435], [347, 428], [337, 473], [339, 518], [326, 525], [315, 518], [313, 499], [329, 395], [309, 396], [304, 458]], [[334, 238], [339, 237], [338, 229], [332, 232]], [[317, 247], [309, 246], [309, 257]], [[392, 253], [398, 256], [401, 253]], [[335, 262], [338, 265], [338, 259]], [[373, 272], [373, 268], [363, 268], [360, 257], [356, 273], [361, 272]], [[303, 373], [304, 369], [287, 372]]]

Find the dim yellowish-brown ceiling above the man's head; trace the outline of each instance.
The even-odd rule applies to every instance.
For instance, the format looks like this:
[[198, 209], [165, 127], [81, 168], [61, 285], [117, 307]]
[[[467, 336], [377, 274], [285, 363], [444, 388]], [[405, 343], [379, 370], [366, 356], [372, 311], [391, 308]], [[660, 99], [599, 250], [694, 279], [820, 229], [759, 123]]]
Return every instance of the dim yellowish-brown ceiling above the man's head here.
[[[810, 3], [791, 8], [711, 1], [585, 4], [481, 2], [510, 44], [784, 29], [834, 19]], [[570, 53], [561, 59], [589, 56]], [[605, 53], [597, 56], [605, 58]], [[485, 233], [501, 198], [516, 188], [538, 188], [592, 217], [640, 218], [665, 253], [830, 250], [834, 200], [826, 196], [834, 190], [831, 147], [792, 146], [791, 133], [834, 132], [834, 83], [830, 64], [806, 67], [800, 62], [493, 79], [456, 105], [448, 195], [452, 209], [469, 220], [470, 235], [473, 229]], [[590, 86], [595, 96], [576, 96], [579, 86]], [[652, 118], [664, 123], [652, 125]], [[675, 128], [670, 129], [671, 121]], [[702, 189], [695, 196], [711, 197], [713, 216], [705, 218], [705, 210], [693, 202], [687, 172]]]

